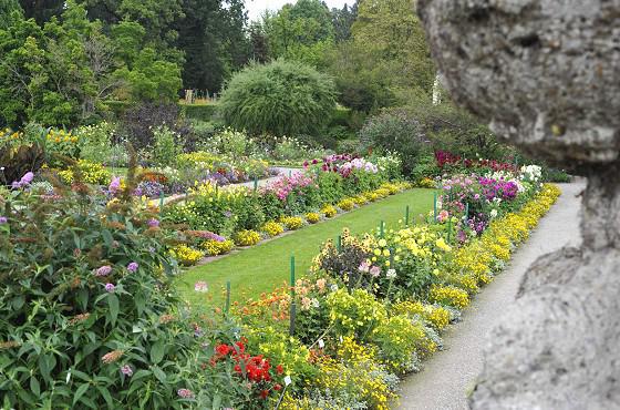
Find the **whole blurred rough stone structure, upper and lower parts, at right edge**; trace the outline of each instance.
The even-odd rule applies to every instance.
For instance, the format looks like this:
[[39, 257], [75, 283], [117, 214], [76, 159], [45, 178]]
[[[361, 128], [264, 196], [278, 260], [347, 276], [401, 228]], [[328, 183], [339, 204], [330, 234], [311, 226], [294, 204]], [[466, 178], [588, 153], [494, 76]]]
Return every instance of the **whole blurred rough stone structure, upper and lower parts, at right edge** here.
[[538, 260], [474, 409], [620, 409], [620, 0], [420, 0], [445, 85], [507, 141], [588, 176], [580, 249]]

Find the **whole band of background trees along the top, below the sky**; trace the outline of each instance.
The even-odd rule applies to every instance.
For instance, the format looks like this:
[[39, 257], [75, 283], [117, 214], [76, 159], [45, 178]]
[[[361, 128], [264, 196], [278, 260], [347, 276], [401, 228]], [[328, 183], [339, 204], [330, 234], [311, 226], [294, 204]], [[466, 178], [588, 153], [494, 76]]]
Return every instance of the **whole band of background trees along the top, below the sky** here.
[[331, 74], [339, 102], [360, 112], [432, 93], [415, 0], [297, 0], [251, 24], [245, 1], [0, 0], [0, 125], [70, 125], [111, 100], [213, 94], [250, 61], [279, 59]]

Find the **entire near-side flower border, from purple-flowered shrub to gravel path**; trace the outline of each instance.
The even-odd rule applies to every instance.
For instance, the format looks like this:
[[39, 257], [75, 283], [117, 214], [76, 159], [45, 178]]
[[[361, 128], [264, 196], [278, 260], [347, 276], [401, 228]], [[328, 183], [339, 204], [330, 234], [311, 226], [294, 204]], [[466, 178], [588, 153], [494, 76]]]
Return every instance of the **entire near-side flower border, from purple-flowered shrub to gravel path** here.
[[[559, 194], [520, 176], [514, 197], [507, 180], [453, 177], [441, 219], [433, 214], [426, 225], [383, 235], [344, 232], [292, 289], [234, 304], [231, 315], [220, 315], [225, 306], [195, 315], [175, 297], [170, 253], [190, 263], [188, 238], [213, 252], [232, 245], [210, 232], [170, 229], [157, 208], [131, 195], [132, 175], [106, 193], [80, 175], [50, 193], [27, 174], [0, 197], [7, 407], [267, 409], [281, 400], [281, 409], [386, 409], [399, 377], [441, 349], [441, 331]], [[484, 189], [480, 213], [497, 215], [478, 232], [468, 228], [467, 205], [478, 206], [469, 198]], [[195, 290], [208, 297], [206, 283]]]

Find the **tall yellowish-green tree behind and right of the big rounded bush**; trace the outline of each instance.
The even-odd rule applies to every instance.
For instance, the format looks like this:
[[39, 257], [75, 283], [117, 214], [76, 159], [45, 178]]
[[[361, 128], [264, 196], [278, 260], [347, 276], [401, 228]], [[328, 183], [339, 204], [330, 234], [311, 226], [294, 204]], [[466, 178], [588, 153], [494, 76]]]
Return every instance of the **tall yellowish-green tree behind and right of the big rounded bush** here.
[[351, 39], [330, 57], [340, 102], [361, 111], [431, 99], [435, 66], [415, 0], [361, 1]]

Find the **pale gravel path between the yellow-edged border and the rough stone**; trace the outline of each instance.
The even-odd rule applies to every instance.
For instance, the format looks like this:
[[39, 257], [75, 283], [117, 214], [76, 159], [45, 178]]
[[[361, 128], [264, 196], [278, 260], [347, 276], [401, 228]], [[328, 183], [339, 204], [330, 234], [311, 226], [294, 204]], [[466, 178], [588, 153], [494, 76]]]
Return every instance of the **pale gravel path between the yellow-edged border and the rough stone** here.
[[562, 195], [540, 221], [529, 240], [513, 256], [502, 275], [476, 296], [463, 312], [463, 320], [444, 335], [445, 350], [434, 355], [422, 372], [402, 383], [400, 409], [467, 409], [466, 396], [483, 369], [482, 346], [495, 322], [502, 319], [506, 304], [516, 296], [524, 274], [539, 256], [565, 245], [579, 245], [578, 195], [585, 181], [558, 184]]

